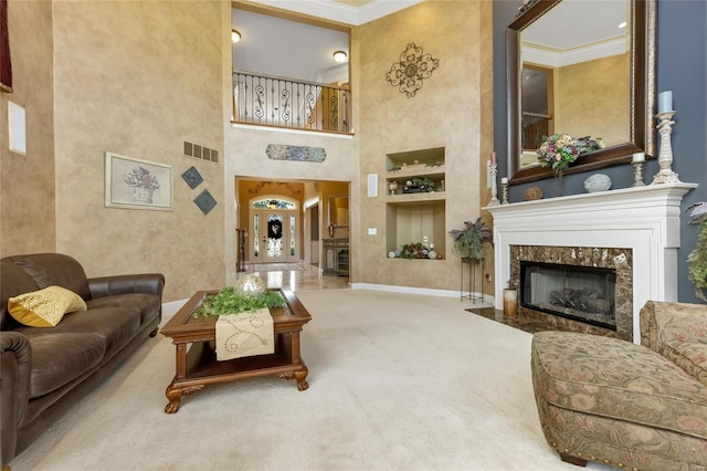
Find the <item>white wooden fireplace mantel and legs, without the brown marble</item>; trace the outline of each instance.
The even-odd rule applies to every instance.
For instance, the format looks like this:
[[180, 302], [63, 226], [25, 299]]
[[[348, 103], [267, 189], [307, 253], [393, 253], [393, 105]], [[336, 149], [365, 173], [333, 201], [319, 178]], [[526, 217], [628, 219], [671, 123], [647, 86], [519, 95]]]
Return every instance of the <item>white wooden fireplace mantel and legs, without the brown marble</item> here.
[[[646, 301], [677, 301], [680, 201], [696, 184], [664, 184], [483, 208], [494, 217], [494, 304], [511, 278], [511, 245], [631, 250], [632, 321]], [[631, 337], [630, 337], [631, 338]]]

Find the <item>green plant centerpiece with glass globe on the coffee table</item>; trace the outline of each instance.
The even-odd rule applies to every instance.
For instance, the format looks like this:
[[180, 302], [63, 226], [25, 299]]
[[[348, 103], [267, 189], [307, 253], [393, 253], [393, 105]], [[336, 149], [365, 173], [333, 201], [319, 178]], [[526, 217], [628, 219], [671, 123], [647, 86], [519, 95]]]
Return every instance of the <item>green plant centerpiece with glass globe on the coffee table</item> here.
[[[282, 307], [285, 300], [277, 291], [267, 291], [262, 281], [239, 280], [235, 286], [226, 286], [217, 294], [210, 294], [193, 316], [220, 316], [258, 311], [265, 307]], [[260, 278], [257, 278], [260, 280]], [[245, 282], [243, 282], [245, 281]]]

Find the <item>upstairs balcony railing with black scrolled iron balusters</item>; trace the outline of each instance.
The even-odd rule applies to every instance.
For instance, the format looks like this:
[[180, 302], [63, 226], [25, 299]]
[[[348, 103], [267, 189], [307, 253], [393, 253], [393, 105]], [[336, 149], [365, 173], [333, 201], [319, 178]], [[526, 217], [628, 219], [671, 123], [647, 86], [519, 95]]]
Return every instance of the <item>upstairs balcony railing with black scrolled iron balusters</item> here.
[[233, 72], [235, 123], [351, 134], [348, 86]]

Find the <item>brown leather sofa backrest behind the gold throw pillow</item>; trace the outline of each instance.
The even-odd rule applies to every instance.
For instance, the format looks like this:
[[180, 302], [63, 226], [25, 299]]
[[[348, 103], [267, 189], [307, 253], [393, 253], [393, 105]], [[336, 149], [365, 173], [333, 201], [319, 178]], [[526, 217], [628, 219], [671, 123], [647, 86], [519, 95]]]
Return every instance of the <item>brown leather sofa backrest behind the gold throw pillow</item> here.
[[8, 257], [24, 270], [39, 289], [53, 284], [64, 286], [84, 300], [91, 297], [86, 272], [75, 259], [62, 253], [35, 253], [31, 255]]

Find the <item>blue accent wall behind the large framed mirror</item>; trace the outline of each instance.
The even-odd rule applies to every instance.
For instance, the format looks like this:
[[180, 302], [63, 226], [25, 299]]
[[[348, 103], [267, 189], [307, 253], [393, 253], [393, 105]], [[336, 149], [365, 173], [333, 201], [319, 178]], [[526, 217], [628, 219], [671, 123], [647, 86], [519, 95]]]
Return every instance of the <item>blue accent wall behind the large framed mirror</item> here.
[[[507, 175], [506, 156], [506, 27], [516, 18], [520, 0], [494, 0], [494, 147], [499, 157], [498, 176]], [[687, 257], [697, 241], [698, 227], [688, 224], [687, 207], [706, 201], [707, 185], [707, 1], [657, 1], [656, 94], [673, 91], [673, 107], [677, 112], [673, 126], [673, 170], [682, 181], [699, 187], [683, 199], [680, 217], [680, 248], [677, 253], [678, 301], [700, 302], [695, 296], [687, 276]], [[655, 123], [655, 119], [653, 119]], [[657, 124], [657, 123], [656, 123]], [[656, 136], [656, 147], [659, 138]], [[633, 182], [630, 165], [600, 170], [613, 181], [612, 188], [627, 188]], [[648, 184], [658, 171], [656, 160], [644, 166], [644, 181]], [[584, 192], [583, 182], [590, 172], [566, 175], [563, 193]], [[509, 199], [523, 201], [523, 191], [529, 186], [555, 195], [552, 180], [510, 187]]]

